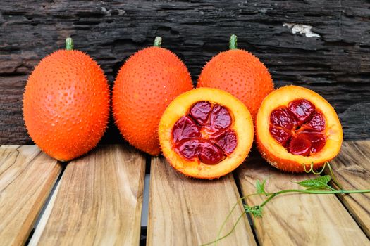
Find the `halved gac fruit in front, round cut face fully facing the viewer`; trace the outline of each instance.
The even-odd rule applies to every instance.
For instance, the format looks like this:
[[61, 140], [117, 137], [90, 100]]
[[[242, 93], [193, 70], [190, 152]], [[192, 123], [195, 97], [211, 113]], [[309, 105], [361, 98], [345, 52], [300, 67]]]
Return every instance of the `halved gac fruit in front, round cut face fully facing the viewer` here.
[[159, 122], [164, 156], [178, 171], [214, 179], [238, 167], [254, 136], [247, 107], [226, 91], [199, 88], [175, 98]]

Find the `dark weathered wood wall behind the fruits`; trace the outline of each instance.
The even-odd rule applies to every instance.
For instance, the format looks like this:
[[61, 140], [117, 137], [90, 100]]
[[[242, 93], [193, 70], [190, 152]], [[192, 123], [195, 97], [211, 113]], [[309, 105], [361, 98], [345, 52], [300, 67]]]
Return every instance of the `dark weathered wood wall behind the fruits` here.
[[[292, 25], [309, 25], [313, 34], [293, 34]], [[63, 48], [66, 37], [112, 83], [128, 56], [156, 35], [196, 81], [204, 63], [227, 48], [230, 34], [269, 67], [276, 86], [307, 86], [332, 103], [345, 139], [370, 138], [369, 1], [19, 0], [0, 4], [0, 144], [31, 143], [23, 88], [32, 67]], [[121, 141], [113, 124], [104, 141]]]

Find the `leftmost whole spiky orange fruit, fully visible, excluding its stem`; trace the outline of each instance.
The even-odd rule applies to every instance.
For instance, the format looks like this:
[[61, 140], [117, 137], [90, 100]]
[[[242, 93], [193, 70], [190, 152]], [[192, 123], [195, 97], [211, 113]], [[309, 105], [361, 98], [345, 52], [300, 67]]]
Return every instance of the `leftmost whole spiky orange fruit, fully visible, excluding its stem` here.
[[60, 50], [42, 59], [23, 95], [32, 140], [56, 160], [94, 148], [109, 118], [109, 85], [99, 65], [81, 51]]

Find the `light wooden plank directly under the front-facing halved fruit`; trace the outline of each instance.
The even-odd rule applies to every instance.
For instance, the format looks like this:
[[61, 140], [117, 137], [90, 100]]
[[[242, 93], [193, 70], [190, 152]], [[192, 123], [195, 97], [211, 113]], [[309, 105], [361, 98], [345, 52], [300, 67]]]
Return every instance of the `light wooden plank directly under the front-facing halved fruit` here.
[[[147, 245], [201, 245], [215, 240], [223, 220], [240, 198], [231, 174], [212, 181], [191, 179], [156, 157], [150, 175]], [[241, 205], [222, 235], [240, 214]], [[256, 245], [246, 216], [218, 245]]]

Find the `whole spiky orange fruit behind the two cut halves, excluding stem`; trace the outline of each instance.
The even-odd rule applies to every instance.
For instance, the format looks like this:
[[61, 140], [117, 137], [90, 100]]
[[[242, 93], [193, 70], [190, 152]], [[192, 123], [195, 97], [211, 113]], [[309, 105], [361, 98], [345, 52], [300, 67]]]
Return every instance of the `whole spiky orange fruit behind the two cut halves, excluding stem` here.
[[273, 82], [256, 56], [233, 49], [219, 53], [204, 66], [197, 87], [228, 91], [247, 106], [254, 118], [264, 97], [273, 91]]

